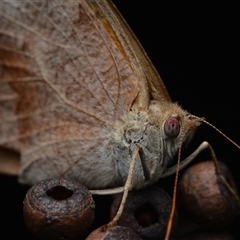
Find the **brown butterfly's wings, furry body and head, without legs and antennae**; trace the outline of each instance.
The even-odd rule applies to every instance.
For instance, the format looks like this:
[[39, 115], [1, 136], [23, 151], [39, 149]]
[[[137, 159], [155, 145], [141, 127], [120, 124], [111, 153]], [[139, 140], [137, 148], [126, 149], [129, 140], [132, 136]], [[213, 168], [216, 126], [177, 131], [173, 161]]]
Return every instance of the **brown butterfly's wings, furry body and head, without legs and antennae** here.
[[169, 161], [200, 119], [172, 103], [110, 1], [1, 2], [0, 144], [21, 153], [19, 180], [73, 178], [133, 188]]

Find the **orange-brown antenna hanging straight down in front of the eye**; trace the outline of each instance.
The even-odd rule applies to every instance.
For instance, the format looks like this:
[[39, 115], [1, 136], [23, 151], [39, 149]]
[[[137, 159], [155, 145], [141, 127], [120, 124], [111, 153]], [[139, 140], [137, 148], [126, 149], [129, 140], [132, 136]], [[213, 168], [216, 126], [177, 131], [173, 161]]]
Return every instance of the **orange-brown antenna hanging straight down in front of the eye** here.
[[181, 158], [182, 142], [183, 142], [183, 134], [181, 134], [180, 147], [178, 149], [176, 174], [175, 174], [174, 187], [173, 187], [172, 206], [171, 206], [171, 211], [170, 211], [170, 215], [169, 215], [169, 219], [168, 219], [165, 240], [169, 240], [170, 233], [171, 233], [172, 226], [173, 226], [173, 221], [174, 221], [174, 214], [175, 214], [175, 211], [176, 211], [177, 184], [178, 184], [178, 175], [179, 175], [179, 170], [180, 170], [180, 158]]

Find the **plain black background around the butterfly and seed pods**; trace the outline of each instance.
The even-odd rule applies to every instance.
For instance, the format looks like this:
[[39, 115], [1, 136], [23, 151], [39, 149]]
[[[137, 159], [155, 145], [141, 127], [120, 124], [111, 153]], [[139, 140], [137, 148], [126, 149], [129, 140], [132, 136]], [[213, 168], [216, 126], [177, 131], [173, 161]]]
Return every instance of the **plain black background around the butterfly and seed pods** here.
[[[172, 100], [192, 114], [205, 117], [240, 144], [237, 5], [113, 2], [144, 46]], [[229, 166], [239, 188], [240, 150], [208, 126], [200, 127], [190, 149], [203, 140], [210, 142], [219, 160]], [[202, 154], [199, 158], [208, 157]], [[22, 219], [22, 201], [28, 187], [11, 177], [1, 176], [0, 182], [1, 239], [33, 239]]]

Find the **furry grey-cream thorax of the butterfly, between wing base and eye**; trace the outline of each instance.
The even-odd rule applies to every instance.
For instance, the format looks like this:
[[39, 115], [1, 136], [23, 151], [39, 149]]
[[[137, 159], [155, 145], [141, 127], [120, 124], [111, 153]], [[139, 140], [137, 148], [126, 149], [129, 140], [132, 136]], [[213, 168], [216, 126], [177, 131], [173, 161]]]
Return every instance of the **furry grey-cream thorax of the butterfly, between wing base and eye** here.
[[[118, 127], [114, 135], [113, 159], [118, 181], [124, 185], [136, 146], [140, 147], [133, 176], [133, 188], [142, 188], [156, 182], [177, 150], [175, 140], [163, 131], [162, 106], [153, 101], [147, 111], [129, 112], [127, 124]], [[120, 129], [120, 131], [119, 131]], [[170, 144], [171, 152], [166, 144]]]

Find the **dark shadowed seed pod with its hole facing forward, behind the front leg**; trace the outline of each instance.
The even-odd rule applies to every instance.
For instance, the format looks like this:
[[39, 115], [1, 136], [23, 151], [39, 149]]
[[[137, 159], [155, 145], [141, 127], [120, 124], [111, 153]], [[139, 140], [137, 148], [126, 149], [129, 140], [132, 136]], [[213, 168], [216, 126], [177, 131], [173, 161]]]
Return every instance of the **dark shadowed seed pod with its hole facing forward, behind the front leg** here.
[[[122, 196], [111, 206], [111, 219], [115, 216]], [[143, 239], [161, 239], [165, 236], [172, 200], [157, 187], [129, 193], [118, 225], [131, 227]], [[176, 222], [176, 218], [175, 218]]]

